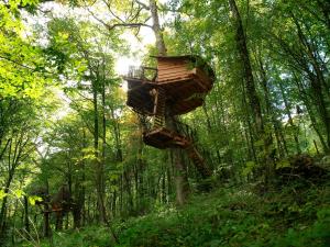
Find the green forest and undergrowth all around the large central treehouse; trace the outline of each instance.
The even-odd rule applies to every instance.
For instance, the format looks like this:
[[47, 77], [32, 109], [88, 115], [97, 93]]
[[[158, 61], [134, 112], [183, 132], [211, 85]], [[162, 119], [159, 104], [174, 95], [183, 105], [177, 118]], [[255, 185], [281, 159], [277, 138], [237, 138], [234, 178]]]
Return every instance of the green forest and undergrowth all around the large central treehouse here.
[[[329, 245], [328, 1], [161, 2], [0, 2], [0, 245]], [[167, 54], [216, 74], [179, 120], [207, 181], [125, 108], [118, 58], [156, 66], [148, 3]]]

